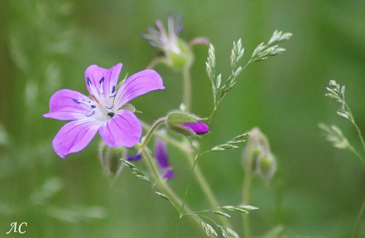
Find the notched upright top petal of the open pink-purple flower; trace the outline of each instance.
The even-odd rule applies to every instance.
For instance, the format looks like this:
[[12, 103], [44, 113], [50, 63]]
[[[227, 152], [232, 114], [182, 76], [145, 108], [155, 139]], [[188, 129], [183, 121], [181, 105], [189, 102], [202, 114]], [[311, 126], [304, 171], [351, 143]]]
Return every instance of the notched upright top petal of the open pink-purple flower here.
[[[113, 87], [117, 86], [122, 65], [122, 63], [119, 63], [110, 69], [104, 69], [95, 64], [90, 65], [85, 71], [86, 87], [90, 95], [95, 95], [98, 100], [104, 100], [105, 97], [108, 97], [112, 93]], [[90, 79], [90, 82], [88, 82], [88, 79]], [[101, 84], [103, 84], [103, 87], [100, 91]]]

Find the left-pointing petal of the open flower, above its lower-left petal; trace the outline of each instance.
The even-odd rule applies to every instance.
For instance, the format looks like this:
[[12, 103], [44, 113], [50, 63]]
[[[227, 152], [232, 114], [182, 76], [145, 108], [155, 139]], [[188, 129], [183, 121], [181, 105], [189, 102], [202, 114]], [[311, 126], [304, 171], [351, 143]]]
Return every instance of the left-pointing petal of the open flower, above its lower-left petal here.
[[84, 94], [69, 89], [62, 89], [49, 100], [49, 113], [43, 117], [54, 118], [58, 120], [78, 120], [85, 118], [85, 113], [91, 111], [91, 107], [83, 103], [74, 102], [73, 99], [82, 101], [87, 99]]

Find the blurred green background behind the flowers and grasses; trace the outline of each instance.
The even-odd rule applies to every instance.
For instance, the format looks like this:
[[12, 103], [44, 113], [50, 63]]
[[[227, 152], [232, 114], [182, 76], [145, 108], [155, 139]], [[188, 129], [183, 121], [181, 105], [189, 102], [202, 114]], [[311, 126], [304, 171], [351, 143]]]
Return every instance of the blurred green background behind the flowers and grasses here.
[[[269, 137], [278, 168], [269, 186], [254, 180], [250, 205], [260, 209], [250, 214], [253, 235], [281, 225], [286, 237], [350, 237], [365, 193], [365, 167], [333, 149], [317, 124], [334, 122], [361, 149], [353, 127], [335, 115], [337, 105], [324, 93], [329, 79], [346, 84], [347, 102], [365, 131], [365, 4], [335, 0], [1, 1], [0, 237], [174, 237], [178, 214], [150, 184], [124, 170], [111, 186], [97, 159], [99, 136], [61, 159], [51, 141], [65, 122], [42, 118], [55, 91], [87, 92], [84, 71], [91, 64], [122, 62], [121, 78], [144, 69], [156, 50], [139, 33], [156, 19], [166, 24], [169, 12], [183, 16], [181, 38], [211, 40], [223, 78], [230, 73], [234, 40], [242, 38], [243, 64], [274, 30], [293, 33], [281, 45], [287, 52], [253, 63], [239, 76], [201, 147], [253, 126]], [[194, 53], [193, 111], [209, 116], [207, 46], [194, 46]], [[166, 90], [132, 101], [149, 123], [181, 103], [181, 74], [164, 65], [155, 69]], [[222, 205], [241, 201], [242, 148], [199, 161]], [[174, 148], [170, 155], [176, 178], [169, 184], [182, 196], [188, 162]], [[188, 204], [209, 208], [195, 182]], [[231, 221], [242, 234], [241, 216]], [[363, 221], [358, 237], [365, 237]], [[26, 233], [5, 234], [12, 222], [27, 222]], [[204, 237], [187, 218], [179, 233]]]

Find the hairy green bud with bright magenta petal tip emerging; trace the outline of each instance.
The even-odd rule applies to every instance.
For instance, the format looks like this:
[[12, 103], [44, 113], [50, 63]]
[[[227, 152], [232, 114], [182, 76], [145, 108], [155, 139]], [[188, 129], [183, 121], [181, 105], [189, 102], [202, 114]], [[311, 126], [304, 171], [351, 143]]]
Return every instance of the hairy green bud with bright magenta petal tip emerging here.
[[173, 131], [185, 136], [193, 136], [209, 131], [209, 127], [201, 121], [204, 119], [187, 112], [174, 111], [168, 114], [166, 121]]

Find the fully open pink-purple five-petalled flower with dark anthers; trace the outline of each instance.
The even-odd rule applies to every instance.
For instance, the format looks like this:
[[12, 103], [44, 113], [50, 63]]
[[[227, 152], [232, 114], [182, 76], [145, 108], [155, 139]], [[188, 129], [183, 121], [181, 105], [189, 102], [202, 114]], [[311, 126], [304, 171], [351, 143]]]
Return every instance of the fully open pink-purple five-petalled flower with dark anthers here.
[[117, 91], [121, 69], [122, 63], [111, 69], [91, 65], [85, 71], [90, 97], [62, 89], [50, 98], [50, 111], [43, 117], [72, 120], [53, 139], [53, 148], [61, 158], [85, 148], [97, 131], [109, 147], [132, 147], [138, 143], [141, 122], [123, 106], [142, 94], [165, 87], [157, 72], [146, 69], [131, 75]]

